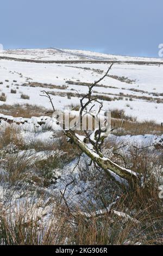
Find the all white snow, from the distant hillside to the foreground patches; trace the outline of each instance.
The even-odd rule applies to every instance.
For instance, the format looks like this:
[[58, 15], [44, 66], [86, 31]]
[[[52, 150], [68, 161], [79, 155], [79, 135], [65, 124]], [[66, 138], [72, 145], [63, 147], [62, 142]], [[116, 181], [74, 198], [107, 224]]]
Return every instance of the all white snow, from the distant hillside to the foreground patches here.
[[[0, 55], [2, 56], [2, 53]], [[7, 50], [3, 52], [3, 57], [32, 60], [122, 60], [124, 63], [115, 64], [109, 74], [112, 76], [117, 76], [119, 79], [109, 76], [105, 77], [105, 79], [100, 83], [101, 87], [96, 86], [94, 88], [96, 92], [93, 94], [109, 96], [111, 99], [121, 96], [121, 99], [112, 101], [103, 100], [104, 110], [114, 108], [124, 109], [127, 115], [137, 117], [137, 120], [154, 120], [159, 124], [162, 122], [163, 65], [155, 64], [155, 62], [159, 61], [163, 63], [163, 59], [112, 56], [110, 54], [95, 53], [90, 51], [67, 49], [60, 50], [56, 48], [35, 50]], [[129, 65], [125, 63], [128, 60], [153, 62], [153, 65]], [[104, 63], [29, 63], [28, 61], [20, 62], [18, 60], [1, 59], [0, 57], [0, 95], [1, 93], [5, 93], [7, 96], [7, 101], [0, 101], [0, 105], [3, 105], [4, 103], [7, 105], [14, 105], [15, 103], [23, 105], [24, 103], [29, 103], [32, 105], [44, 106], [49, 109], [51, 107], [49, 101], [45, 97], [40, 96], [41, 90], [46, 89], [51, 95], [52, 93], [57, 93], [57, 95], [52, 95], [55, 108], [61, 110], [65, 108], [66, 111], [68, 111], [68, 105], [79, 104], [80, 98], [77, 96], [77, 93], [74, 90], [77, 90], [79, 94], [86, 93], [87, 87], [84, 86], [84, 83], [92, 83], [95, 80], [98, 80], [102, 76], [102, 71], [107, 69], [108, 65]], [[125, 80], [122, 81], [121, 78], [123, 76], [127, 77], [130, 80], [130, 83], [127, 83]], [[73, 84], [68, 84], [66, 81], [72, 81]], [[47, 84], [47, 87], [30, 87], [28, 86], [28, 82]], [[79, 82], [83, 82], [83, 85], [79, 84]], [[24, 86], [24, 84], [26, 84], [26, 86]], [[55, 87], [48, 88], [49, 84], [53, 84]], [[66, 86], [66, 89], [56, 87], [63, 85]], [[9, 88], [7, 86], [9, 86]], [[17, 93], [12, 94], [10, 92], [11, 89], [16, 89]], [[137, 91], [135, 92], [130, 89], [136, 89]], [[76, 95], [71, 96], [71, 98], [68, 99], [67, 93], [70, 92], [74, 94], [76, 93]], [[22, 93], [27, 94], [30, 99], [21, 99]], [[61, 93], [64, 96], [61, 96]], [[158, 94], [158, 96], [156, 94]], [[131, 96], [133, 96], [132, 101], [129, 100]], [[143, 96], [143, 99], [140, 99], [141, 96]], [[147, 100], [147, 97], [151, 97], [151, 99]], [[128, 100], [126, 100], [126, 98]], [[161, 103], [158, 103], [156, 99], [160, 99]], [[71, 113], [77, 115], [77, 111], [72, 111]], [[32, 160], [32, 164], [34, 166], [34, 163], [38, 160], [46, 160], [52, 155], [55, 156], [55, 154], [57, 154], [59, 157], [63, 157], [65, 154], [67, 154], [60, 149], [53, 150], [52, 148], [52, 150], [43, 150], [41, 148], [41, 151], [36, 151], [36, 149], [33, 149], [34, 143], [37, 142], [45, 142], [47, 145], [51, 145], [51, 143], [52, 145], [55, 145], [55, 143], [59, 142], [60, 137], [55, 136], [55, 131], [59, 130], [59, 125], [56, 124], [54, 116], [52, 118], [14, 118], [10, 115], [5, 115], [2, 109], [0, 113], [0, 120], [1, 135], [3, 136], [3, 131], [8, 125], [14, 126], [18, 129], [18, 136], [22, 138], [23, 145], [26, 146], [24, 148], [27, 148], [27, 150], [16, 149], [17, 151], [14, 151], [16, 146], [10, 143], [0, 150], [0, 161], [1, 157], [3, 159], [3, 157], [8, 155], [11, 157], [17, 155], [19, 157], [21, 156], [22, 159], [25, 157], [28, 160]], [[12, 124], [7, 123], [7, 121]], [[40, 125], [40, 123], [42, 124]], [[84, 141], [84, 136], [77, 135], [77, 137], [80, 141]], [[126, 147], [122, 148], [121, 150], [123, 153], [126, 153], [128, 157], [130, 157], [129, 150], [133, 146], [137, 148], [149, 147], [151, 152], [156, 151], [157, 155], [162, 154], [162, 150], [159, 151], [156, 145], [162, 147], [163, 135], [109, 135], [108, 140], [109, 139], [115, 141], [117, 144], [127, 144]], [[50, 148], [51, 147], [49, 147], [49, 149]], [[10, 153], [7, 152], [7, 149], [8, 151], [11, 149]], [[87, 144], [87, 149], [91, 151], [93, 156], [99, 157], [94, 151], [92, 151], [93, 148], [91, 144]], [[106, 149], [106, 152], [107, 150], [108, 149]], [[103, 157], [103, 160], [108, 159]], [[111, 206], [115, 204], [115, 202], [111, 203], [111, 197], [115, 195], [115, 188], [112, 186], [111, 180], [106, 184], [106, 188], [100, 188], [103, 174], [99, 172], [99, 170], [96, 170], [93, 167], [93, 164], [92, 166], [87, 167], [89, 169], [87, 170], [85, 178], [80, 177], [82, 176], [80, 173], [80, 167], [82, 167], [82, 171], [85, 172], [85, 162], [89, 163], [90, 159], [89, 157], [85, 156], [85, 154], [82, 154], [78, 166], [78, 158], [76, 158], [70, 160], [68, 163], [64, 163], [64, 167], [55, 168], [52, 170], [52, 183], [47, 185], [47, 187], [44, 187], [40, 185], [41, 183], [37, 183], [34, 181], [34, 179], [31, 179], [33, 174], [35, 174], [35, 170], [32, 169], [31, 173], [29, 170], [29, 173], [27, 174], [31, 183], [29, 182], [29, 184], [24, 184], [23, 181], [17, 180], [17, 182], [20, 182], [20, 184], [16, 187], [13, 184], [9, 184], [10, 181], [5, 181], [5, 178], [9, 175], [9, 173], [6, 171], [6, 169], [4, 169], [3, 164], [5, 161], [3, 161], [3, 164], [1, 163], [0, 167], [0, 176], [2, 178], [0, 182], [0, 203], [6, 206], [10, 204], [12, 212], [11, 214], [9, 212], [10, 220], [14, 219], [14, 211], [19, 211], [21, 207], [25, 209], [25, 206], [28, 206], [27, 204], [29, 204], [31, 216], [34, 218], [40, 216], [38, 223], [47, 223], [47, 226], [52, 225], [52, 220], [49, 222], [48, 220], [52, 216], [52, 208], [55, 207], [55, 205], [53, 205], [53, 203], [48, 204], [48, 202], [53, 201], [52, 199], [54, 199], [56, 196], [62, 200], [60, 191], [63, 191], [65, 192], [64, 197], [67, 200], [68, 205], [72, 206], [73, 208], [78, 208], [79, 206], [79, 208], [81, 208], [80, 210], [83, 210], [81, 214], [88, 218], [95, 215], [101, 215], [106, 211], [111, 210], [115, 215], [122, 217], [124, 221], [130, 220], [137, 224], [137, 220], [130, 217], [130, 215], [118, 210], [111, 209]], [[74, 169], [74, 167], [76, 168]], [[156, 166], [156, 168], [158, 172], [162, 172], [161, 167]], [[135, 172], [131, 172], [129, 169], [123, 169], [126, 172], [137, 175]], [[123, 182], [127, 186], [127, 182], [124, 179], [121, 179], [111, 170], [108, 170], [108, 172], [111, 175], [114, 175], [117, 181]], [[91, 178], [90, 175], [92, 175]], [[161, 175], [162, 174], [159, 173], [159, 176]], [[71, 184], [70, 182], [72, 179], [74, 179], [74, 182]], [[141, 179], [141, 181], [141, 185], [143, 186], [144, 180]], [[162, 182], [161, 178], [160, 181]], [[67, 184], [70, 185], [67, 186]], [[111, 199], [111, 202], [108, 204], [109, 206], [106, 209], [103, 209], [103, 206], [99, 208], [98, 205], [98, 200], [101, 197], [100, 194], [100, 197], [98, 198], [98, 193], [101, 193], [101, 191], [106, 192], [109, 200]], [[38, 194], [43, 193], [45, 198], [39, 198]], [[94, 198], [92, 194], [96, 194], [96, 198]], [[93, 208], [91, 204], [93, 204]], [[88, 213], [86, 212], [86, 208], [84, 207], [85, 205], [87, 209], [93, 209], [93, 211], [91, 210], [92, 214], [90, 211]], [[9, 208], [7, 208], [7, 210], [9, 211]], [[24, 216], [24, 220], [26, 221], [26, 216]], [[54, 216], [53, 222], [55, 222]]]

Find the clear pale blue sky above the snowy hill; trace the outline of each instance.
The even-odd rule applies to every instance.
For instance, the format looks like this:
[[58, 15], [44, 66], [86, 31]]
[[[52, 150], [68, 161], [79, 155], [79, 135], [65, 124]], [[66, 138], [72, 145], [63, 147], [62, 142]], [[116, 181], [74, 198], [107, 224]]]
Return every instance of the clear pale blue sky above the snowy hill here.
[[162, 0], [1, 0], [4, 48], [76, 48], [158, 57]]

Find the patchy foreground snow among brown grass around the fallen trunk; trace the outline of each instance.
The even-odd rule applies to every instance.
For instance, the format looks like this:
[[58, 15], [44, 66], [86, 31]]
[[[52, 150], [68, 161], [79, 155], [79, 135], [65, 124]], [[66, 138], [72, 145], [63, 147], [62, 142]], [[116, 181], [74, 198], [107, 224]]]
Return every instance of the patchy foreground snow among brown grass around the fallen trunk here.
[[[76, 113], [76, 112], [74, 112]], [[13, 118], [9, 117], [7, 115], [0, 115], [0, 118], [10, 118], [10, 120], [17, 121], [17, 122], [23, 122], [23, 118]], [[32, 129], [35, 123], [37, 125], [37, 121], [45, 120], [45, 123], [47, 122], [49, 125], [51, 125], [53, 122], [53, 118], [49, 117], [39, 117], [39, 118], [32, 118], [32, 119], [26, 119], [28, 123], [21, 125], [21, 133], [20, 136], [22, 137], [24, 141], [24, 145], [29, 145], [31, 141], [42, 141], [46, 142], [47, 144], [55, 143], [57, 141], [57, 137], [54, 136], [54, 131], [36, 131], [35, 129]], [[26, 125], [29, 125], [29, 129], [27, 129]], [[5, 128], [5, 125], [7, 123], [5, 121], [2, 122], [0, 129], [3, 130]], [[13, 124], [12, 124], [13, 125]], [[16, 125], [16, 124], [15, 124]], [[25, 125], [26, 129], [23, 129], [23, 126]], [[18, 126], [18, 125], [17, 125]], [[41, 132], [40, 132], [41, 131]], [[78, 139], [80, 141], [83, 141], [84, 136], [79, 136]], [[136, 145], [137, 147], [142, 147], [142, 145], [151, 145], [154, 143], [159, 142], [161, 139], [163, 141], [163, 135], [162, 136], [154, 136], [154, 135], [145, 135], [145, 136], [120, 136], [117, 137], [115, 135], [109, 135], [108, 139], [114, 139], [117, 142], [127, 142], [129, 145]], [[154, 148], [154, 147], [153, 147]], [[127, 150], [126, 147], [123, 150]], [[11, 156], [14, 153], [10, 153]], [[63, 156], [65, 153], [62, 150], [43, 150], [43, 151], [36, 151], [34, 149], [28, 149], [28, 150], [20, 150], [18, 153], [16, 153], [17, 156], [22, 156], [22, 159], [26, 157], [26, 159], [29, 159], [30, 162], [34, 165], [34, 163], [38, 160], [45, 160], [49, 156], [57, 154], [59, 156]], [[1, 151], [0, 151], [1, 155]], [[104, 158], [105, 159], [105, 158]], [[32, 179], [30, 180], [30, 177], [33, 176], [33, 173], [29, 173], [29, 181], [32, 182], [32, 184], [23, 184], [20, 182], [19, 186], [14, 186], [13, 184], [10, 185], [7, 182], [5, 182], [5, 178], [7, 175], [9, 175], [3, 167], [0, 167], [0, 175], [1, 182], [0, 182], [0, 203], [1, 206], [3, 206], [3, 209], [5, 212], [8, 213], [9, 220], [14, 221], [14, 214], [17, 212], [21, 212], [21, 209], [29, 209], [28, 210], [28, 218], [27, 215], [23, 216], [24, 223], [26, 223], [28, 220], [33, 219], [37, 221], [38, 229], [40, 229], [40, 226], [45, 224], [45, 227], [48, 228], [50, 225], [54, 225], [57, 215], [53, 213], [53, 208], [55, 208], [55, 198], [59, 198], [60, 202], [63, 202], [63, 199], [61, 197], [60, 191], [64, 192], [64, 197], [66, 199], [67, 204], [71, 207], [71, 209], [79, 209], [80, 214], [83, 215], [86, 218], [91, 218], [93, 216], [101, 216], [105, 214], [106, 212], [111, 212], [116, 215], [118, 218], [122, 218], [122, 223], [131, 221], [135, 224], [139, 224], [139, 222], [136, 220], [136, 218], [131, 217], [133, 216], [132, 212], [129, 212], [127, 214], [126, 212], [122, 212], [121, 210], [118, 211], [118, 209], [112, 209], [112, 206], [115, 205], [116, 201], [115, 198], [111, 198], [115, 196], [115, 187], [112, 187], [112, 181], [110, 180], [107, 184], [107, 187], [100, 187], [101, 186], [101, 180], [104, 179], [99, 170], [96, 170], [93, 168], [93, 164], [91, 167], [89, 167], [89, 170], [87, 170], [86, 173], [86, 179], [79, 178], [80, 174], [80, 168], [85, 168], [85, 160], [87, 163], [89, 163], [89, 157], [86, 157], [84, 154], [82, 154], [80, 158], [80, 163], [78, 166], [76, 166], [78, 162], [78, 158], [75, 160], [70, 161], [70, 163], [65, 164], [65, 166], [62, 169], [54, 169], [53, 170], [53, 182], [52, 184], [48, 185], [47, 187], [41, 186], [40, 184], [37, 185], [36, 182], [34, 182]], [[74, 167], [76, 167], [74, 169]], [[73, 170], [73, 172], [72, 172]], [[32, 170], [34, 172], [34, 170]], [[84, 170], [85, 172], [85, 170]], [[113, 172], [109, 171], [112, 175], [115, 176], [117, 181], [121, 181], [124, 183], [123, 179], [120, 179], [117, 175], [115, 175]], [[90, 175], [93, 175], [93, 178], [89, 178]], [[70, 184], [70, 182], [74, 180]], [[67, 184], [70, 184], [67, 186]], [[127, 185], [127, 182], [125, 183]], [[143, 180], [142, 180], [143, 184]], [[99, 207], [99, 198], [101, 198], [101, 194], [95, 193], [95, 191], [99, 193], [103, 192], [107, 193], [108, 204], [106, 205], [105, 209], [104, 206], [101, 205]], [[38, 195], [41, 194], [41, 197]], [[43, 197], [42, 197], [43, 194]], [[95, 194], [96, 198], [92, 195]], [[120, 196], [120, 194], [119, 194]], [[117, 198], [118, 199], [118, 198]], [[64, 202], [63, 202], [64, 203]], [[93, 205], [93, 208], [92, 208]], [[108, 206], [108, 207], [107, 207]], [[101, 209], [101, 210], [99, 210]], [[128, 209], [124, 209], [124, 211], [128, 212]], [[76, 212], [79, 212], [74, 210], [74, 215], [76, 215]], [[112, 216], [112, 215], [111, 215]], [[110, 221], [114, 222], [113, 219]], [[55, 227], [55, 225], [54, 225]]]

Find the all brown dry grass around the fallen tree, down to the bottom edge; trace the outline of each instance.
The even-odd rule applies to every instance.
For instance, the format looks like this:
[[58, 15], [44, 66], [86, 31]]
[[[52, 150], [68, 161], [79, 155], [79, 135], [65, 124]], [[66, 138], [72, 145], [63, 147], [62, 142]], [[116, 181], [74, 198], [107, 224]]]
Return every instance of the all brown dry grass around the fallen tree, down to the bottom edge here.
[[[30, 105], [27, 105], [30, 107]], [[19, 114], [24, 110], [20, 106]], [[33, 108], [32, 108], [33, 109]], [[7, 111], [13, 111], [7, 109]], [[21, 112], [22, 111], [22, 112]], [[124, 113], [121, 113], [124, 115]], [[121, 117], [117, 116], [112, 121], [120, 126]], [[141, 134], [151, 129], [156, 129], [156, 124], [137, 123], [125, 121], [123, 128], [132, 134]], [[123, 131], [124, 132], [124, 131]], [[0, 244], [5, 245], [160, 245], [163, 232], [162, 201], [158, 196], [158, 176], [156, 170], [162, 166], [160, 151], [153, 149], [136, 149], [130, 147], [124, 151], [123, 159], [127, 168], [142, 174], [145, 186], [136, 185], [134, 188], [123, 190], [116, 182], [106, 180], [105, 174], [99, 170], [90, 172], [89, 166], [81, 164], [77, 184], [89, 182], [95, 184], [90, 194], [90, 202], [83, 204], [82, 200], [69, 209], [64, 200], [54, 194], [46, 195], [46, 188], [51, 185], [53, 174], [57, 168], [64, 168], [64, 164], [79, 156], [80, 150], [67, 143], [67, 138], [59, 132], [55, 143], [32, 140], [24, 145], [18, 130], [7, 127], [1, 134], [0, 148], [13, 143], [19, 149], [35, 149], [36, 151], [55, 150], [53, 157], [36, 159], [35, 154], [6, 154], [4, 161], [5, 175], [1, 182], [9, 184], [8, 192], [12, 189], [23, 190], [21, 200], [17, 198], [0, 204]], [[118, 148], [116, 141], [107, 141], [105, 149]], [[60, 154], [58, 154], [60, 150]], [[121, 151], [117, 153], [122, 154]], [[110, 152], [108, 154], [111, 154]], [[120, 155], [112, 155], [111, 160], [125, 166]], [[37, 160], [37, 161], [36, 161]], [[83, 162], [82, 162], [83, 163]], [[99, 173], [99, 174], [98, 174]], [[109, 183], [110, 182], [110, 183]], [[25, 184], [25, 185], [24, 185]], [[111, 191], [108, 192], [108, 184]], [[30, 186], [31, 185], [31, 186]], [[35, 185], [32, 187], [32, 185]], [[54, 182], [53, 182], [54, 185]], [[16, 187], [16, 188], [15, 188]], [[45, 190], [44, 190], [45, 188]], [[87, 191], [85, 191], [87, 192]], [[87, 192], [88, 193], [88, 192]], [[31, 197], [36, 194], [32, 201]], [[92, 211], [106, 209], [120, 199], [110, 212], [100, 215], [85, 217], [82, 212], [91, 214]], [[48, 202], [47, 202], [48, 197]], [[110, 199], [112, 197], [112, 199]], [[91, 202], [92, 200], [92, 202]], [[95, 206], [96, 202], [96, 206]], [[133, 219], [118, 216], [116, 212], [128, 214]]]

